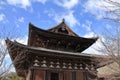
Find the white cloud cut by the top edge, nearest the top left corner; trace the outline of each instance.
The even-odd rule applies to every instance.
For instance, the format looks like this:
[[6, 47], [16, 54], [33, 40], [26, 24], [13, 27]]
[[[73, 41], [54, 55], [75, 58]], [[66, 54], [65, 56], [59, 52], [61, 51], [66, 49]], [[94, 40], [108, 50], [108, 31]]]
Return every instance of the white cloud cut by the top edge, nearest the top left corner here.
[[7, 3], [21, 8], [27, 8], [31, 6], [30, 0], [7, 0]]

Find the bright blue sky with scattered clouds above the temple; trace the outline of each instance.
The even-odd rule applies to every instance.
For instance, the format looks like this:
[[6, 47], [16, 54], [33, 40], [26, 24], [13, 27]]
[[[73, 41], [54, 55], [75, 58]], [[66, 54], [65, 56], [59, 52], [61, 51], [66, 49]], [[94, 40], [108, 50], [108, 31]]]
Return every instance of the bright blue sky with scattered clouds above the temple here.
[[27, 43], [30, 22], [39, 28], [49, 29], [64, 18], [81, 37], [101, 36], [104, 29], [112, 31], [114, 27], [114, 22], [102, 19], [106, 16], [102, 5], [109, 4], [103, 0], [0, 0], [0, 30], [11, 31], [18, 36], [19, 42]]

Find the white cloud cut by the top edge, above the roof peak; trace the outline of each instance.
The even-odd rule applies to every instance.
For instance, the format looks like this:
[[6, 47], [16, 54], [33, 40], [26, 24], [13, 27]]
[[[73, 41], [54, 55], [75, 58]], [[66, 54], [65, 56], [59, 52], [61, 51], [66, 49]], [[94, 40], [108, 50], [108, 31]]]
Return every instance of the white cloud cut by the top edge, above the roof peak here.
[[59, 6], [71, 9], [78, 4], [79, 0], [54, 0], [54, 2]]

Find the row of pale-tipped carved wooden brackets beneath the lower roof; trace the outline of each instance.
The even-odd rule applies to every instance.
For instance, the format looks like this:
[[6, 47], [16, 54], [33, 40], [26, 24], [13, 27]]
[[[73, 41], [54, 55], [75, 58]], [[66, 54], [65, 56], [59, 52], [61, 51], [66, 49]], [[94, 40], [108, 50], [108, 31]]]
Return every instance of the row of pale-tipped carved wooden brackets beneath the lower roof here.
[[[41, 59], [41, 60], [38, 60]], [[85, 63], [82, 60], [57, 59], [49, 57], [38, 57], [34, 60], [33, 67], [45, 69], [65, 69], [65, 70], [91, 70], [95, 71], [95, 66], [91, 63]]]

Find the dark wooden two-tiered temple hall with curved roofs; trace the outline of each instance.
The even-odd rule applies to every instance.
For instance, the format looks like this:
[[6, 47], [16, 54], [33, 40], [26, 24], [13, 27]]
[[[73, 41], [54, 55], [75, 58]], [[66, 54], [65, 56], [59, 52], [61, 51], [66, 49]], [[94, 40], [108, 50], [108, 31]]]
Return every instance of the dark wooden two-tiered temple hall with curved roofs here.
[[97, 80], [100, 57], [84, 54], [98, 38], [83, 38], [74, 33], [64, 19], [43, 30], [29, 24], [28, 44], [6, 39], [18, 76], [25, 80]]

